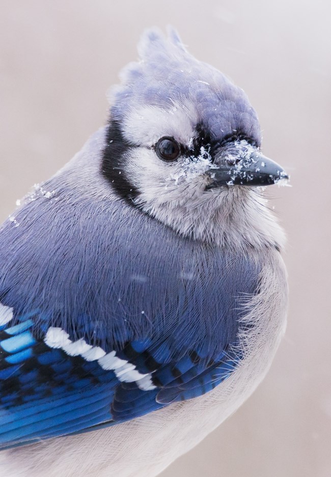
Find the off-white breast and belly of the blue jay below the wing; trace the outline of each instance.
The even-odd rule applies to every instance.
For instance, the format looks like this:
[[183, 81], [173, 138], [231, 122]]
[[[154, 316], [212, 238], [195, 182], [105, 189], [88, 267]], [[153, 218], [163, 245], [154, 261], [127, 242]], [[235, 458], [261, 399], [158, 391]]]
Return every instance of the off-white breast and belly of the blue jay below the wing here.
[[[264, 378], [285, 329], [286, 274], [278, 252], [266, 259], [261, 291], [245, 320], [245, 357], [206, 395], [100, 431], [0, 453], [2, 477], [153, 477], [231, 415]], [[184, 477], [184, 476], [183, 476]]]

